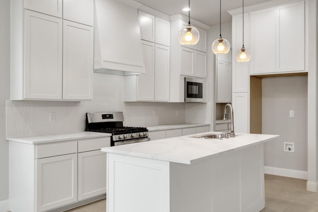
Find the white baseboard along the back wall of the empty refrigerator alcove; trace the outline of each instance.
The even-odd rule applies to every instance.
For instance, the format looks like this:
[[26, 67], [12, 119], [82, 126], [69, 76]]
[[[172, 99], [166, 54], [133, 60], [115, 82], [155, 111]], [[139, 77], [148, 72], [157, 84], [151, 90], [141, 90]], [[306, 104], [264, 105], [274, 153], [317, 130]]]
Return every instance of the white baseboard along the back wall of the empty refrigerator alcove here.
[[284, 177], [304, 179], [304, 180], [308, 179], [308, 172], [307, 171], [299, 171], [299, 170], [294, 170], [294, 169], [284, 169], [284, 168], [264, 166], [264, 173], [278, 175], [278, 176], [284, 176]]

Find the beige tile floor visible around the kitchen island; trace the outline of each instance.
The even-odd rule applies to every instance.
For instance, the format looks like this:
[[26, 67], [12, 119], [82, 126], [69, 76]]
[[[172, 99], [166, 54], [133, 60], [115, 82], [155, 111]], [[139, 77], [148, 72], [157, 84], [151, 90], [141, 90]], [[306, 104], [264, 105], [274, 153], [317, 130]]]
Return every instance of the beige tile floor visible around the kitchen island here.
[[[318, 192], [306, 191], [306, 180], [265, 174], [265, 208], [261, 212], [318, 212]], [[100, 200], [68, 212], [105, 212]]]

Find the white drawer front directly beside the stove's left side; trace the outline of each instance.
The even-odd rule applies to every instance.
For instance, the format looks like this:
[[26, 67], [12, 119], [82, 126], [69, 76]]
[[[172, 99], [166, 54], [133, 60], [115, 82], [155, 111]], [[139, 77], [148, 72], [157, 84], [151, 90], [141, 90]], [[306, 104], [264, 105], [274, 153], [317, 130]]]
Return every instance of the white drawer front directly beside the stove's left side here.
[[110, 137], [79, 141], [79, 152], [98, 150], [110, 146]]

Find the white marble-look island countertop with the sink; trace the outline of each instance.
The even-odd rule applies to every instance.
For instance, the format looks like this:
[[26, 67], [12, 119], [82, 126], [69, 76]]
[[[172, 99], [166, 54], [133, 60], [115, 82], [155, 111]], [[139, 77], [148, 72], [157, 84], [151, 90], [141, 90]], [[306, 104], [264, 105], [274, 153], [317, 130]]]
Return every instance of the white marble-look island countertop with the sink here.
[[[196, 136], [209, 135], [211, 133], [196, 134]], [[102, 148], [101, 150], [109, 153], [192, 164], [206, 157], [226, 154], [230, 151], [239, 150], [279, 137], [276, 135], [239, 134], [235, 138], [210, 140], [191, 138], [193, 136], [111, 146]]]

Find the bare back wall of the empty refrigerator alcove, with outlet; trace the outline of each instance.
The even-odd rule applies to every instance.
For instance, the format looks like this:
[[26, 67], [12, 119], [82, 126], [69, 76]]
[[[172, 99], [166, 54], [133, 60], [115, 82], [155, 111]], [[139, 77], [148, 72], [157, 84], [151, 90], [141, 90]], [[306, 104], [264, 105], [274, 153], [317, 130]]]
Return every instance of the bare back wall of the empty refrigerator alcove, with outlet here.
[[[262, 134], [280, 135], [264, 144], [265, 166], [307, 171], [307, 76], [262, 79]], [[289, 117], [289, 110], [295, 117]], [[294, 142], [295, 152], [285, 152]]]

